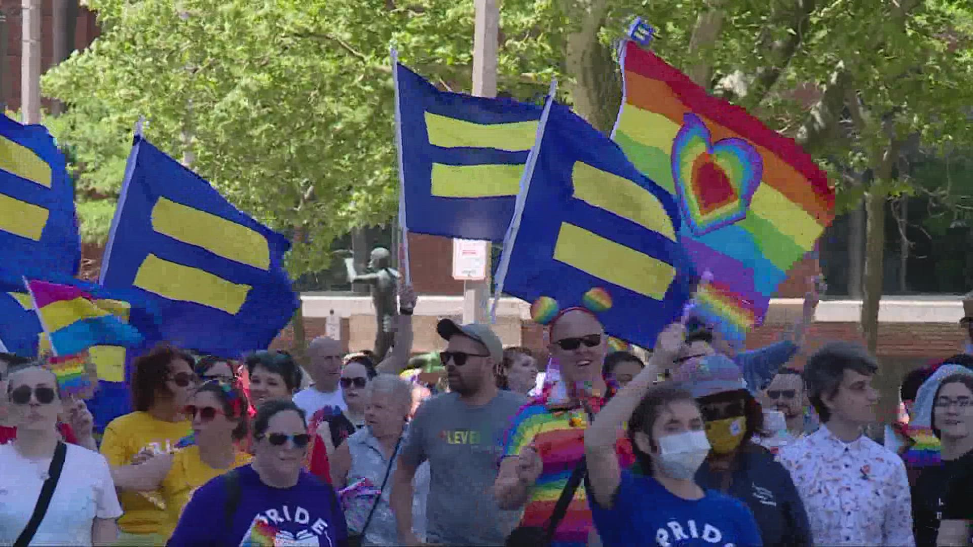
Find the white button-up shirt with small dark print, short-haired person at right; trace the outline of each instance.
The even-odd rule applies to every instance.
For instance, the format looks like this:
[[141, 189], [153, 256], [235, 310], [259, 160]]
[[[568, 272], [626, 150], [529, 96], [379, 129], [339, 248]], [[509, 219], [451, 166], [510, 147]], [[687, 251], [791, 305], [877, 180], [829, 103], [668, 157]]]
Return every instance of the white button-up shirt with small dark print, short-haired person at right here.
[[777, 460], [804, 501], [815, 545], [916, 545], [905, 464], [872, 439], [845, 443], [822, 425]]

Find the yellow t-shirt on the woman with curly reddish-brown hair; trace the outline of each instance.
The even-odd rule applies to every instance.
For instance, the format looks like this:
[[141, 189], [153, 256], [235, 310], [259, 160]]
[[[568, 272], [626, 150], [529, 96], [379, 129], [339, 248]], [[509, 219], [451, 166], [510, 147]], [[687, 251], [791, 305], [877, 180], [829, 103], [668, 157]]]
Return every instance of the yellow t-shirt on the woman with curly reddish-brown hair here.
[[[172, 452], [179, 439], [192, 432], [192, 423], [163, 421], [147, 412], [133, 412], [113, 419], [101, 439], [101, 455], [113, 467], [128, 465], [132, 456], [152, 448], [159, 453]], [[157, 494], [158, 495], [158, 494]], [[165, 520], [165, 510], [150, 501], [151, 492], [119, 492], [125, 514], [119, 529], [126, 533], [157, 533]]]

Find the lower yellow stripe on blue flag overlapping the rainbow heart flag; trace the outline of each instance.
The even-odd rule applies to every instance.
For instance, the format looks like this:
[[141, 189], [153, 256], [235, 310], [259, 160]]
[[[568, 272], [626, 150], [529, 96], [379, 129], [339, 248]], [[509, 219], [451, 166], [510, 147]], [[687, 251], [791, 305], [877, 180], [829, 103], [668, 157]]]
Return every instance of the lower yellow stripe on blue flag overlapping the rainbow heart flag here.
[[640, 295], [663, 300], [675, 269], [631, 247], [560, 223], [554, 259]]

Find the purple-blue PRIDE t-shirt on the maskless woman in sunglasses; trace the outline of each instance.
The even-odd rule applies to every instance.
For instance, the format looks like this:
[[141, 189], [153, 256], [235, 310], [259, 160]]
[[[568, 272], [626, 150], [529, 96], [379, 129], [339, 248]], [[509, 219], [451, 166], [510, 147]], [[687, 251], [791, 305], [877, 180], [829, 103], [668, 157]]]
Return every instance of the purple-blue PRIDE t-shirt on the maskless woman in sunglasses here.
[[233, 523], [225, 521], [227, 481], [212, 479], [183, 509], [169, 547], [307, 545], [337, 547], [347, 538], [344, 513], [331, 486], [305, 470], [298, 484], [275, 489], [250, 465], [237, 468], [240, 496]]

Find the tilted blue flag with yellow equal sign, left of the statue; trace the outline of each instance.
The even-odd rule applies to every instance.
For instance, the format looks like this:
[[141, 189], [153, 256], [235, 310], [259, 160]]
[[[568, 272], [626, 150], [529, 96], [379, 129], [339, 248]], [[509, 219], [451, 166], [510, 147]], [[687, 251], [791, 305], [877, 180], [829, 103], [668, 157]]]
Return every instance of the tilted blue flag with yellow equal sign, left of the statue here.
[[162, 340], [236, 357], [269, 346], [297, 310], [283, 267], [289, 248], [286, 237], [136, 136], [101, 284], [133, 287], [153, 301]]

